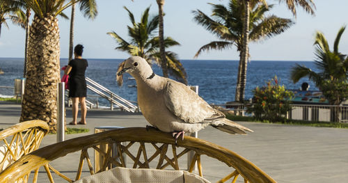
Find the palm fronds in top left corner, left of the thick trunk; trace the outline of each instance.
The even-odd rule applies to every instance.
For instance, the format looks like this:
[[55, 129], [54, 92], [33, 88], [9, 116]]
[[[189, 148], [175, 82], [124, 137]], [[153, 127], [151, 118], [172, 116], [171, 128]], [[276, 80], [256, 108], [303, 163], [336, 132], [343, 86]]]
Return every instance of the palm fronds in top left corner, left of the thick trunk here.
[[0, 36], [1, 36], [1, 27], [5, 25], [8, 27], [7, 20], [13, 22], [13, 24], [17, 24], [24, 28], [24, 19], [25, 15], [20, 8], [11, 6], [8, 1], [0, 1]]

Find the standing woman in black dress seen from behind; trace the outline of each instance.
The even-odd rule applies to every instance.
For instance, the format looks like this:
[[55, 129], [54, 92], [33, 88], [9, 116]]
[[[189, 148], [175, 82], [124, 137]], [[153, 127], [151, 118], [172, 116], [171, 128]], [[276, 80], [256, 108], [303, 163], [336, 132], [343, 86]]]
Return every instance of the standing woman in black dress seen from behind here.
[[[76, 45], [74, 47], [74, 59], [69, 61], [68, 67], [64, 70], [64, 74], [69, 74], [69, 97], [72, 98], [72, 122], [69, 125], [86, 125], [86, 96], [87, 86], [85, 79], [86, 68], [88, 62], [82, 58], [84, 46]], [[77, 122], [77, 113], [79, 111], [79, 102], [81, 105], [81, 121]]]

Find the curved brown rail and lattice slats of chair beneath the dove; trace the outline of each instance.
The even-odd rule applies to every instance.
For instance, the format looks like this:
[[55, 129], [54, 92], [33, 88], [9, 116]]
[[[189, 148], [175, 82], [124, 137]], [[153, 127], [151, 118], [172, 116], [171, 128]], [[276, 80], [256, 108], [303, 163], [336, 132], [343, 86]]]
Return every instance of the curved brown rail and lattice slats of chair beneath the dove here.
[[[122, 145], [122, 142], [129, 143], [128, 145]], [[133, 155], [129, 149], [136, 142], [139, 143], [139, 149], [137, 152], [135, 152], [135, 155]], [[145, 148], [144, 143], [153, 145], [156, 152], [154, 154], [147, 154], [147, 147]], [[207, 155], [208, 157], [218, 159], [226, 165], [235, 168], [235, 170], [232, 170], [231, 168], [231, 173], [226, 177], [221, 177], [220, 182], [225, 182], [230, 178], [237, 179], [238, 175], [242, 175], [244, 182], [276, 182], [269, 177], [269, 175], [260, 170], [260, 168], [252, 164], [250, 161], [244, 159], [244, 157], [241, 157], [235, 152], [232, 152], [231, 150], [223, 148], [219, 145], [215, 145], [198, 138], [193, 138], [191, 136], [185, 136], [184, 141], [177, 141], [177, 145], [175, 145], [174, 138], [171, 136], [171, 134], [159, 132], [156, 129], [146, 129], [141, 127], [113, 129], [98, 134], [73, 138], [68, 141], [63, 141], [61, 143], [40, 148], [39, 150], [35, 150], [34, 152], [25, 155], [0, 173], [0, 182], [19, 180], [25, 175], [28, 175], [31, 170], [37, 170], [41, 166], [47, 167], [47, 164], [49, 164], [50, 161], [58, 159], [59, 157], [65, 157], [65, 155], [72, 152], [77, 152], [79, 150], [81, 150], [80, 166], [82, 166], [84, 159], [87, 159], [87, 162], [89, 161], [87, 151], [88, 148], [93, 148], [94, 150], [97, 150], [97, 152], [102, 153], [100, 147], [101, 145], [105, 144], [109, 145], [109, 150], [103, 152], [104, 155], [101, 156], [104, 157], [104, 160], [102, 162], [100, 171], [106, 170], [106, 167], [110, 164], [113, 164], [113, 166], [126, 167], [121, 153], [127, 154], [128, 157], [134, 161], [133, 168], [149, 168], [150, 161], [158, 156], [158, 164], [157, 167], [155, 166], [154, 168], [163, 169], [166, 168], [166, 166], [171, 166], [173, 169], [178, 169], [179, 166], [177, 159], [182, 157], [183, 154], [186, 154], [190, 150], [193, 150], [196, 152], [196, 155], [192, 164], [194, 164], [195, 161], [198, 163], [200, 175], [202, 175], [202, 168], [200, 168], [200, 156]], [[111, 148], [113, 145], [117, 145], [117, 157], [111, 157]], [[168, 150], [168, 145], [172, 146], [172, 151], [174, 154], [173, 158], [166, 155], [167, 151], [172, 152], [171, 150]], [[180, 150], [177, 149], [179, 147], [184, 148], [184, 150], [180, 152]], [[143, 162], [140, 160], [141, 156], [143, 156], [143, 159], [145, 159]], [[116, 158], [119, 160], [116, 161]], [[90, 168], [91, 174], [95, 173], [95, 170], [93, 170], [93, 167], [91, 167], [90, 161], [88, 163], [88, 167]], [[51, 169], [53, 170], [53, 168]], [[79, 179], [80, 175], [81, 170], [77, 172], [77, 180]], [[36, 175], [34, 175], [34, 177], [35, 176]], [[63, 176], [65, 175], [62, 175], [61, 177]], [[68, 180], [68, 182], [72, 181], [66, 177], [64, 179]]]

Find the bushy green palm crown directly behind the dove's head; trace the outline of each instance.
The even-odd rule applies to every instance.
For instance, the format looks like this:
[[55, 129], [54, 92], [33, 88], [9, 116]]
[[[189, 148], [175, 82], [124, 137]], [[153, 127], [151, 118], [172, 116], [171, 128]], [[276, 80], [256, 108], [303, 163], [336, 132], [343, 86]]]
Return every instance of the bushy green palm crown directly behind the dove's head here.
[[[121, 38], [115, 31], [107, 34], [111, 35], [116, 40], [119, 47], [116, 49], [120, 51], [126, 51], [132, 56], [141, 56], [145, 58], [148, 63], [155, 61], [158, 65], [161, 65], [161, 53], [159, 51], [159, 37], [155, 36], [155, 32], [159, 25], [159, 15], [149, 17], [150, 7], [146, 8], [144, 13], [141, 15], [141, 22], [136, 23], [134, 15], [126, 7], [129, 19], [132, 22], [132, 26], [127, 26], [128, 35], [131, 38], [129, 42]], [[171, 46], [180, 45], [170, 37], [164, 38], [164, 47], [168, 48]], [[187, 74], [182, 66], [182, 63], [177, 59], [177, 55], [172, 51], [166, 51], [166, 66], [162, 67], [162, 70], [166, 68], [171, 76], [175, 79], [187, 83]]]

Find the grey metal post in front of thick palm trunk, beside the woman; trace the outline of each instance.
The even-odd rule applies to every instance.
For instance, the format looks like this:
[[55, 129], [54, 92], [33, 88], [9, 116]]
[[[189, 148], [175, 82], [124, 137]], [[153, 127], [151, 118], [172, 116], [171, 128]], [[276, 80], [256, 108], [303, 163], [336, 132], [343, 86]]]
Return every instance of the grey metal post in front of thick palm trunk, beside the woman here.
[[57, 113], [58, 113], [58, 120], [57, 120], [57, 143], [62, 142], [65, 140], [65, 122], [64, 122], [64, 116], [65, 116], [65, 83], [58, 83], [58, 91], [57, 91]]

